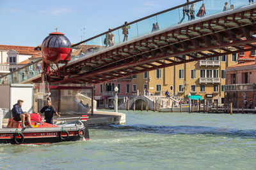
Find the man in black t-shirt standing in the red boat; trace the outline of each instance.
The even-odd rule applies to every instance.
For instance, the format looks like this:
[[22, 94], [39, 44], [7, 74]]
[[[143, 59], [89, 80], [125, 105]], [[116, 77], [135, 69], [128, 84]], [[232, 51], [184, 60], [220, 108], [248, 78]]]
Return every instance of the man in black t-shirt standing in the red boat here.
[[46, 106], [44, 106], [44, 108], [42, 108], [42, 110], [40, 110], [40, 113], [44, 113], [44, 119], [46, 120], [45, 122], [48, 124], [53, 124], [53, 114], [55, 113], [58, 117], [60, 117], [60, 115], [57, 113], [57, 111], [55, 110], [55, 108], [51, 105], [51, 101], [50, 99], [47, 99], [46, 101]]

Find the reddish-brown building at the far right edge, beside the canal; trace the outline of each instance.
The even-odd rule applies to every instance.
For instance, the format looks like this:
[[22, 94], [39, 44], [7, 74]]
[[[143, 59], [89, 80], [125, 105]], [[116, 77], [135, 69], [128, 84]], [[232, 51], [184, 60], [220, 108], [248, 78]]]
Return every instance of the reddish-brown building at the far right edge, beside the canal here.
[[[244, 62], [227, 68], [225, 98], [227, 99], [226, 102], [232, 102], [235, 108], [237, 106], [242, 108], [245, 99], [248, 103], [246, 108], [256, 106], [255, 62]], [[251, 107], [250, 104], [252, 104]]]

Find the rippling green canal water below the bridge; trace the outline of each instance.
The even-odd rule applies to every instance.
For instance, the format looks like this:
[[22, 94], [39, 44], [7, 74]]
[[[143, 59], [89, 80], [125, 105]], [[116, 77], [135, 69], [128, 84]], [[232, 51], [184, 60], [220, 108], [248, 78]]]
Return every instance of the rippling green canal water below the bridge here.
[[124, 111], [90, 141], [0, 145], [0, 169], [255, 169], [256, 115]]

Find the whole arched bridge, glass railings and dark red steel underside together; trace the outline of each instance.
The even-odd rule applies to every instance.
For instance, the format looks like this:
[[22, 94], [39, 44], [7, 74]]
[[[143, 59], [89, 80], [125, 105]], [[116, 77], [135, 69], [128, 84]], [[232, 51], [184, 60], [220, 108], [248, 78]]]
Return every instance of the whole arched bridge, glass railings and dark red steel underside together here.
[[[97, 84], [186, 62], [255, 50], [256, 5], [249, 5], [245, 0], [230, 0], [228, 5], [232, 4], [234, 9], [223, 11], [226, 1], [192, 1], [81, 41], [72, 47], [83, 44], [93, 48], [67, 65], [52, 66], [50, 81]], [[186, 16], [180, 23], [184, 6], [194, 4], [196, 15], [203, 3], [207, 15], [189, 21]], [[160, 29], [152, 32], [152, 24], [156, 22]], [[129, 28], [127, 41], [123, 41], [122, 34], [125, 26]], [[104, 44], [106, 34], [113, 34], [115, 45]], [[245, 45], [250, 48], [240, 47]], [[36, 64], [44, 65], [42, 60], [30, 65], [36, 67]], [[1, 76], [0, 83], [41, 81], [44, 70], [31, 73], [28, 68]]]

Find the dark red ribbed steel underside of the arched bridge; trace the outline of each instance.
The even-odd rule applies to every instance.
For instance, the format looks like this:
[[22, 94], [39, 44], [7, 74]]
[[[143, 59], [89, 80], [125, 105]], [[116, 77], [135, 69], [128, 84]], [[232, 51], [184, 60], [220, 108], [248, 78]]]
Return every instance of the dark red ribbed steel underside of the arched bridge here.
[[[51, 75], [51, 82], [97, 84], [186, 62], [256, 50], [253, 45], [256, 9], [204, 19], [68, 64], [63, 73]], [[244, 45], [250, 48], [240, 47]]]

